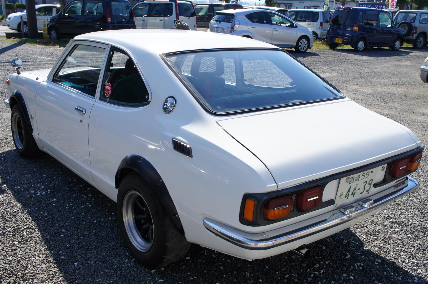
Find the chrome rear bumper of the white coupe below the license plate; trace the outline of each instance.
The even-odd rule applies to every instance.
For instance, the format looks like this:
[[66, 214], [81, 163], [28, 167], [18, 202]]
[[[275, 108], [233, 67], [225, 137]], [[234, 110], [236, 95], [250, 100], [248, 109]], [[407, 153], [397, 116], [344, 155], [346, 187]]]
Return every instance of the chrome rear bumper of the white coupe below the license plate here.
[[[415, 179], [408, 177], [407, 180], [407, 186], [391, 192], [388, 195], [384, 195], [381, 198], [377, 198], [375, 200], [368, 198], [360, 202], [358, 205], [352, 206], [352, 208], [350, 206], [342, 208], [340, 212], [334, 213], [333, 216], [327, 220], [278, 235], [270, 236], [269, 232], [248, 233], [208, 218], [203, 220], [203, 224], [208, 231], [211, 231], [216, 236], [241, 248], [247, 248], [250, 250], [269, 249], [321, 233], [322, 231], [326, 231], [352, 220], [355, 221], [363, 215], [374, 213], [376, 210], [385, 207], [418, 187], [418, 182]], [[398, 185], [394, 186], [397, 187]], [[281, 229], [274, 231], [281, 231]]]

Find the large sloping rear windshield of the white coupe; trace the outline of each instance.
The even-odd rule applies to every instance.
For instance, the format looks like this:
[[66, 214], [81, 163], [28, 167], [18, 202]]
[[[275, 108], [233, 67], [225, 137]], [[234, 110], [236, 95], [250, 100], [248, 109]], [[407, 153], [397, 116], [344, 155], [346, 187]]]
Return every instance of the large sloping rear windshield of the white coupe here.
[[342, 97], [279, 50], [229, 50], [166, 56], [197, 98], [226, 113]]

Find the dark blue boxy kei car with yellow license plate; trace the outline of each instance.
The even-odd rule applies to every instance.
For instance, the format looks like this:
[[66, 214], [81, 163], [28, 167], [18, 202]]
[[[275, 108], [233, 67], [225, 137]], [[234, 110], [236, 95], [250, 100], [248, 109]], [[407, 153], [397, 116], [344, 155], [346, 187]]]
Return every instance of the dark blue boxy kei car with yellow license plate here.
[[331, 49], [339, 44], [351, 45], [361, 52], [366, 47], [386, 46], [399, 50], [404, 33], [398, 29], [388, 13], [363, 7], [336, 8], [330, 19], [326, 36]]

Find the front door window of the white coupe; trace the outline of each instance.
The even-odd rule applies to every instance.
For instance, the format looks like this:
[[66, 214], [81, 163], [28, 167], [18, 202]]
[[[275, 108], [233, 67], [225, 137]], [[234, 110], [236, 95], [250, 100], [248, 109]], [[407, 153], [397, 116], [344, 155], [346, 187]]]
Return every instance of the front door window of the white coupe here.
[[76, 45], [55, 72], [53, 81], [95, 98], [105, 48]]

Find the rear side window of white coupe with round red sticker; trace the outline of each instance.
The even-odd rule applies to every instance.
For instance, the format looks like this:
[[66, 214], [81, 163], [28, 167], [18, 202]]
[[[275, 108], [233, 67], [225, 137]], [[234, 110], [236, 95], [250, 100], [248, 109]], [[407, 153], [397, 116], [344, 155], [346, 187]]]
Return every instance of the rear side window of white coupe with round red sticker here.
[[112, 49], [107, 66], [101, 85], [101, 101], [125, 107], [149, 104], [149, 91], [128, 54]]

